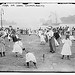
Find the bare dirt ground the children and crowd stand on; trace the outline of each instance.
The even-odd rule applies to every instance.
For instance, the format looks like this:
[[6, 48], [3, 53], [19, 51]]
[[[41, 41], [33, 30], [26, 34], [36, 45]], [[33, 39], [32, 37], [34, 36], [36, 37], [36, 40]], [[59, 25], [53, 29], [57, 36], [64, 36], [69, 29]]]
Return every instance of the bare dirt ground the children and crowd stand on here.
[[[27, 68], [25, 58], [21, 58], [19, 55], [17, 58], [12, 53], [13, 43], [9, 42], [6, 38], [6, 56], [0, 57], [0, 71], [54, 71], [54, 72], [75, 72], [75, 41], [73, 41], [72, 55], [70, 60], [61, 59], [61, 47], [57, 47], [56, 53], [50, 53], [49, 45], [40, 45], [40, 39], [36, 35], [21, 35], [22, 42], [26, 50], [34, 53], [37, 59], [37, 68], [31, 63], [30, 68]], [[45, 54], [45, 60], [43, 61], [43, 54]], [[23, 51], [23, 57], [25, 52]]]

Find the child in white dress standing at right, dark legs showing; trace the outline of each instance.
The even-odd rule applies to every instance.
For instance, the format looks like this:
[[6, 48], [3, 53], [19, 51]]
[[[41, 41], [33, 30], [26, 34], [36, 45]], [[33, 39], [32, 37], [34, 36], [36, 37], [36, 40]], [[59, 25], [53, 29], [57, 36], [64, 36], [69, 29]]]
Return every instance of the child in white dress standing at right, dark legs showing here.
[[71, 53], [71, 46], [72, 46], [72, 42], [69, 39], [69, 35], [66, 35], [66, 39], [62, 40], [62, 43], [64, 43], [63, 48], [62, 48], [62, 59], [64, 58], [64, 56], [67, 56], [67, 59], [70, 59], [69, 56], [72, 54]]

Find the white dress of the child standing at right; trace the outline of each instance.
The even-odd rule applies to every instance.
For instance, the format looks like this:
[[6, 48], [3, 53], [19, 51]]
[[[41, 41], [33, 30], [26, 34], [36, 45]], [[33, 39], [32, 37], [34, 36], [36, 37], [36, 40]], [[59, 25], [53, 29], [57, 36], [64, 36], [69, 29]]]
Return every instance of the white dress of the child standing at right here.
[[63, 47], [62, 47], [62, 51], [61, 54], [62, 55], [72, 55], [71, 53], [71, 46], [72, 46], [72, 42], [69, 39], [63, 39], [62, 43], [64, 43]]

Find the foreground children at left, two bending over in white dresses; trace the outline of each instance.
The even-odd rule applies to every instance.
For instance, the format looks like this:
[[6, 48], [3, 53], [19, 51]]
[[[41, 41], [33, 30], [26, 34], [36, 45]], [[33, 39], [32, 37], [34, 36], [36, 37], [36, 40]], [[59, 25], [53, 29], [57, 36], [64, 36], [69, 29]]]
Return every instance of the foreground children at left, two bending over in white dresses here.
[[[8, 36], [8, 37], [10, 37], [10, 36]], [[26, 59], [27, 67], [29, 68], [30, 62], [33, 62], [35, 68], [37, 68], [37, 66], [36, 66], [37, 61], [36, 61], [35, 55], [32, 52], [25, 50], [25, 48], [23, 47], [23, 43], [22, 43], [21, 39], [16, 34], [13, 34], [13, 36], [10, 38], [14, 42], [12, 52], [15, 53], [16, 57], [18, 57], [18, 55], [22, 55], [23, 51], [25, 51], [26, 55], [24, 58]], [[9, 38], [8, 38], [8, 40], [9, 40]], [[1, 57], [6, 56], [6, 54], [5, 54], [6, 48], [5, 47], [6, 47], [5, 38], [3, 36], [1, 36], [0, 37], [0, 55], [1, 55]]]

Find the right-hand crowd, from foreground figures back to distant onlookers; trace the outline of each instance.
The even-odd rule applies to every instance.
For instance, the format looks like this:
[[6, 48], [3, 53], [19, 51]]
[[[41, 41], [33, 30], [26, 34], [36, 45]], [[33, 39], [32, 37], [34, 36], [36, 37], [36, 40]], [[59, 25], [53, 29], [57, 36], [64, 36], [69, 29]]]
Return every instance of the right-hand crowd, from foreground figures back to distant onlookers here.
[[[49, 43], [50, 52], [55, 53], [56, 47], [59, 47], [60, 44], [64, 44], [62, 47], [61, 55], [62, 59], [64, 56], [67, 56], [68, 59], [70, 59], [70, 55], [72, 55], [71, 52], [71, 46], [72, 41], [75, 41], [74, 38], [74, 31], [75, 28], [70, 28], [68, 26], [66, 27], [47, 27], [46, 29], [39, 29], [38, 36], [40, 38], [41, 44]], [[65, 38], [62, 38], [62, 36], [65, 36]]]

